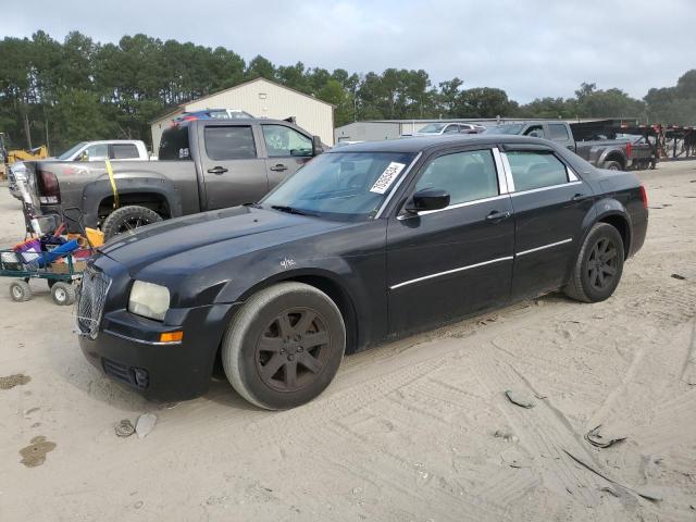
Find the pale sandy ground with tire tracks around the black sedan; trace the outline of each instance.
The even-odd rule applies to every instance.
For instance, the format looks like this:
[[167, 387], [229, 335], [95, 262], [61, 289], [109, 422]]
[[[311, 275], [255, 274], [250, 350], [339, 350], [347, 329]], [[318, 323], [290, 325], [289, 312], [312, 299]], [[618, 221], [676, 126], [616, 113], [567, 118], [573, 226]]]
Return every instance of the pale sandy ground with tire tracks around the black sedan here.
[[[696, 520], [696, 162], [641, 177], [648, 238], [606, 302], [546, 296], [349, 357], [287, 412], [223, 382], [148, 403], [83, 359], [44, 282], [15, 303], [0, 279], [0, 377], [29, 377], [0, 381], [0, 520]], [[0, 189], [0, 245], [22, 229]], [[115, 436], [144, 412], [146, 438]], [[598, 425], [625, 440], [588, 444]]]

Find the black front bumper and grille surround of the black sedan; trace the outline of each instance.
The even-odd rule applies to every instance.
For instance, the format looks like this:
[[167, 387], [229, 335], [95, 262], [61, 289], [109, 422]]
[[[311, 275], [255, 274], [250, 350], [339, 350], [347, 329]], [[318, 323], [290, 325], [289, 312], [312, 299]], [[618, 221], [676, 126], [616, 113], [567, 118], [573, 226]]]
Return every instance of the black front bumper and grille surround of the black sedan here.
[[[240, 303], [170, 309], [164, 322], [152, 321], [127, 311], [132, 279], [123, 265], [101, 256], [95, 269], [111, 278], [111, 286], [95, 337], [79, 336], [87, 360], [148, 399], [177, 401], [203, 395], [222, 337]], [[181, 343], [159, 341], [160, 334], [177, 331], [184, 332]]]

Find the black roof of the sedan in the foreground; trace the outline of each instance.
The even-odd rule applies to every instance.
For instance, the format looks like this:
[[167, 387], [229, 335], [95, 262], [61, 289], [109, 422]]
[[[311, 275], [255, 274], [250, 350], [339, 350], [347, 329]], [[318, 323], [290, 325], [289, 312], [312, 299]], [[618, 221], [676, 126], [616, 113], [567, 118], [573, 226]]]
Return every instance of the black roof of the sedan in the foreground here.
[[335, 152], [426, 152], [437, 148], [458, 145], [489, 146], [496, 144], [537, 144], [549, 146], [546, 139], [531, 138], [529, 136], [502, 135], [502, 134], [467, 134], [455, 136], [418, 136], [412, 138], [387, 139], [383, 141], [363, 141], [361, 144], [346, 145]]

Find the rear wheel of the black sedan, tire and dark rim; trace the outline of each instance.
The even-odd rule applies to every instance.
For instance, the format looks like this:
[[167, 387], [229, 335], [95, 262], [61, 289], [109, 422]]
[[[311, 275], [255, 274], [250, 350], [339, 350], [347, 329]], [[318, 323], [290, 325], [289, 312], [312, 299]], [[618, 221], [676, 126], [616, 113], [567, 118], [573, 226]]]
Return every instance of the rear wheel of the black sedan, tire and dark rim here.
[[624, 246], [621, 234], [608, 223], [596, 223], [587, 234], [566, 295], [583, 302], [609, 298], [623, 273]]

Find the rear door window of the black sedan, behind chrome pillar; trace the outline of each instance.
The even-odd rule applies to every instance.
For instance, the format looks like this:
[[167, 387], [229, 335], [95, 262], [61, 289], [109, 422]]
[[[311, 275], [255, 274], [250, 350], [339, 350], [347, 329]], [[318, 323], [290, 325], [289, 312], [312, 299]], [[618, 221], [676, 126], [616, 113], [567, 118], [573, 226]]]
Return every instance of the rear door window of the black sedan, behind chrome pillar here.
[[550, 152], [508, 151], [506, 156], [518, 192], [568, 183], [566, 165]]

